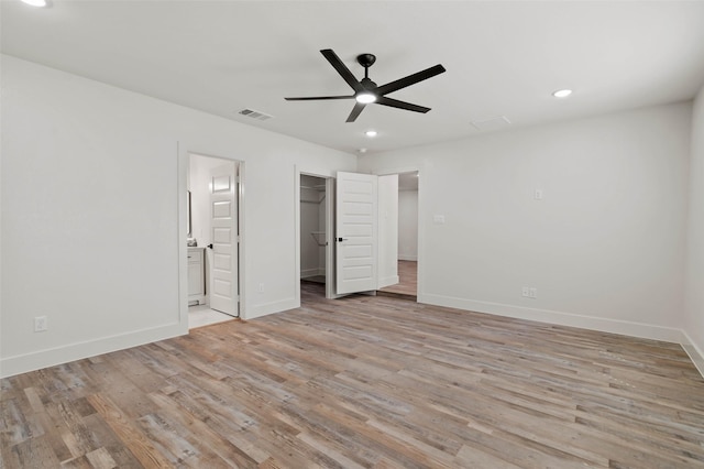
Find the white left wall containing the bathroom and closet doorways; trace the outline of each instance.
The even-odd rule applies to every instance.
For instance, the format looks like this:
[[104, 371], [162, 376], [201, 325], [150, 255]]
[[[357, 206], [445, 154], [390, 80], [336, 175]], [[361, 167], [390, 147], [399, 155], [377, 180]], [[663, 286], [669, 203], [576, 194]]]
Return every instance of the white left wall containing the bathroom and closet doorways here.
[[188, 152], [244, 161], [245, 318], [297, 306], [295, 165], [354, 155], [1, 59], [2, 375], [187, 331]]

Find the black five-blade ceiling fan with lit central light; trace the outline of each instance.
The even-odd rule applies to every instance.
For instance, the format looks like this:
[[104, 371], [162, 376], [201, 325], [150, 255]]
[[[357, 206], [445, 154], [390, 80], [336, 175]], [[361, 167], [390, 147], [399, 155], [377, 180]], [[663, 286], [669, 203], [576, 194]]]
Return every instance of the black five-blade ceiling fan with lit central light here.
[[342, 63], [338, 54], [331, 48], [324, 48], [320, 51], [323, 57], [328, 59], [330, 65], [334, 67], [340, 76], [352, 87], [354, 95], [350, 96], [312, 96], [300, 98], [284, 98], [287, 101], [314, 101], [319, 99], [355, 99], [354, 108], [348, 117], [346, 122], [354, 122], [360, 116], [360, 112], [366, 105], [377, 103], [383, 106], [389, 106], [392, 108], [405, 109], [407, 111], [426, 113], [430, 108], [424, 106], [413, 105], [406, 101], [399, 101], [398, 99], [388, 98], [386, 95], [393, 91], [397, 91], [407, 86], [415, 85], [418, 81], [422, 81], [428, 78], [432, 78], [436, 75], [440, 75], [444, 72], [444, 67], [440, 64], [435, 67], [426, 68], [425, 70], [408, 75], [407, 77], [399, 78], [395, 81], [387, 83], [386, 85], [377, 86], [370, 79], [370, 67], [376, 62], [374, 54], [361, 54], [356, 57], [356, 62], [364, 67], [364, 78], [358, 80], [352, 72]]

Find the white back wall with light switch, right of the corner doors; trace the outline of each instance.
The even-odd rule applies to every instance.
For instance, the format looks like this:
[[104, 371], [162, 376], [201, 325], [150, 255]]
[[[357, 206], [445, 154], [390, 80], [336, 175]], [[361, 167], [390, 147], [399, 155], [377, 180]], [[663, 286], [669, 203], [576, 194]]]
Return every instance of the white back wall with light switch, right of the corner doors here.
[[420, 168], [420, 302], [678, 341], [690, 130], [678, 103], [365, 155], [360, 171]]

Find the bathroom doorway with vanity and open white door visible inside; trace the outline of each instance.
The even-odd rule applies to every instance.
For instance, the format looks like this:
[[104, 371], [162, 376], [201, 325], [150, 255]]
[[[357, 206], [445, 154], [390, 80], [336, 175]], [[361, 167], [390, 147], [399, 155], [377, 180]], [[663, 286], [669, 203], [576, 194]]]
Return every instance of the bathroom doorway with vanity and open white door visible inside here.
[[189, 328], [240, 315], [241, 171], [237, 161], [189, 154]]

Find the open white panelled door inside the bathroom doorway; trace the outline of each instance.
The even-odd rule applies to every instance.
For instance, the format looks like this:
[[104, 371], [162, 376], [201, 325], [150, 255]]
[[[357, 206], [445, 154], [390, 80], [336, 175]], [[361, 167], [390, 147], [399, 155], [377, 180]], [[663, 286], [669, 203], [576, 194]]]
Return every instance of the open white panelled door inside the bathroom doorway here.
[[231, 316], [239, 314], [237, 185], [234, 162], [210, 171], [210, 307]]

